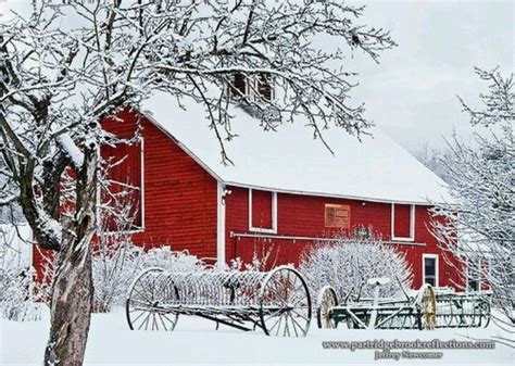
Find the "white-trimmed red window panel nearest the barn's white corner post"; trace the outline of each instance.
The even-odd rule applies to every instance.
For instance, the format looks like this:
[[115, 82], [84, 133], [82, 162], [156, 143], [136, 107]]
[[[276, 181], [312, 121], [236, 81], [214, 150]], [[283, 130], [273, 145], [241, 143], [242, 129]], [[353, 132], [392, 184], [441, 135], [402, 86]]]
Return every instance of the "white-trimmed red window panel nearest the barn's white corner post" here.
[[249, 230], [277, 232], [277, 193], [249, 189]]

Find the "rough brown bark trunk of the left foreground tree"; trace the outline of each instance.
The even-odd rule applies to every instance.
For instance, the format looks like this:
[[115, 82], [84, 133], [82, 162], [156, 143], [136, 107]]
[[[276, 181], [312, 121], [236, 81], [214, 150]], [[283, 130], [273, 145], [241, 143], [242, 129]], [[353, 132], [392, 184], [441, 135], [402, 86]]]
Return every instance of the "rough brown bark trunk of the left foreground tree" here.
[[63, 223], [55, 268], [45, 365], [79, 366], [88, 339], [93, 285], [91, 238], [96, 229], [97, 149], [86, 149], [76, 178], [75, 216]]

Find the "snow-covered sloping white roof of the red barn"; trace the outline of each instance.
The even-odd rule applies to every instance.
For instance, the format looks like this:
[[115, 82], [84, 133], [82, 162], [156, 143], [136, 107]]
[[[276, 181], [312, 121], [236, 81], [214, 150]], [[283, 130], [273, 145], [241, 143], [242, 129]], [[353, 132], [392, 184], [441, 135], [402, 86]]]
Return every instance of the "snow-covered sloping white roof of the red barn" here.
[[234, 165], [224, 165], [203, 106], [183, 104], [186, 111], [172, 97], [155, 93], [142, 110], [225, 184], [380, 202], [424, 204], [448, 198], [445, 184], [379, 128], [362, 142], [341, 128], [329, 128], [325, 139], [332, 155], [313, 139], [305, 116], [264, 131], [259, 119], [235, 108], [231, 130], [238, 137], [225, 142]]

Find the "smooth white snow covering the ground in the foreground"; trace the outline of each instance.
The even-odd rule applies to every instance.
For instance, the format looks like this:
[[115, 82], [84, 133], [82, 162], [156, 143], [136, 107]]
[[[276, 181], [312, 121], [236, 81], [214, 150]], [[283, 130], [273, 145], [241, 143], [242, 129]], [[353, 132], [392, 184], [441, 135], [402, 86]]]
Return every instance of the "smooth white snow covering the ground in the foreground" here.
[[[48, 336], [49, 314], [41, 321], [0, 319], [0, 365], [40, 365]], [[86, 352], [86, 365], [514, 365], [515, 350], [497, 344], [494, 350], [441, 350], [442, 359], [374, 359], [374, 350], [324, 350], [323, 341], [485, 339], [488, 329], [344, 330], [317, 329], [306, 338], [273, 338], [261, 331], [214, 329], [214, 324], [179, 317], [173, 332], [131, 331], [125, 313], [95, 314]], [[416, 350], [413, 350], [416, 351]], [[426, 350], [427, 351], [427, 350]], [[440, 350], [429, 350], [440, 351]]]

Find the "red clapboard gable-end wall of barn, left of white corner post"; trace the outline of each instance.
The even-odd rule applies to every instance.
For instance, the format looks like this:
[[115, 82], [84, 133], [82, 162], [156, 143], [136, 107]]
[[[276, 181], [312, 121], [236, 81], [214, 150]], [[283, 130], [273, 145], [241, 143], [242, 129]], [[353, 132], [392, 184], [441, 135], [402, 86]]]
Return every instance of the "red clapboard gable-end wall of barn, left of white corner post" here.
[[[125, 123], [104, 122], [117, 136], [131, 136], [135, 114]], [[142, 119], [145, 230], [133, 240], [146, 248], [171, 245], [200, 257], [216, 257], [216, 180], [150, 121]]]

